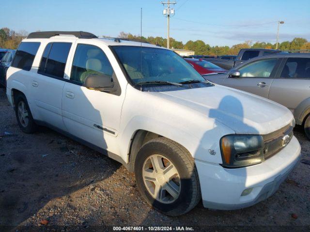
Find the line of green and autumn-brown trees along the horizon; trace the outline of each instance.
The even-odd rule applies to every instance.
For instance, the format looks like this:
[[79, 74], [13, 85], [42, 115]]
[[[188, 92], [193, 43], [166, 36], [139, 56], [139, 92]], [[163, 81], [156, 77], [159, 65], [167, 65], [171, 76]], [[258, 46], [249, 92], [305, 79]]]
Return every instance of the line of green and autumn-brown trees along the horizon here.
[[[9, 28], [0, 29], [0, 47], [16, 49], [18, 44], [22, 41], [22, 39], [26, 38], [28, 32], [19, 31], [15, 32]], [[108, 37], [108, 36], [104, 36]], [[163, 37], [141, 37], [139, 35], [133, 35], [131, 33], [125, 33], [124, 31], [120, 32], [119, 38], [124, 39], [132, 39], [147, 43], [152, 43], [156, 45], [160, 45], [162, 47], [167, 46], [167, 39]], [[187, 41], [185, 44], [182, 41], [177, 41], [173, 38], [170, 38], [170, 46], [171, 48], [176, 49], [187, 49], [195, 52], [196, 55], [237, 55], [239, 50], [242, 48], [268, 48], [268, 49], [276, 49], [276, 44], [265, 43], [265, 42], [255, 42], [246, 41], [244, 43], [234, 44], [233, 46], [210, 46], [207, 43], [204, 43], [202, 40], [196, 41]], [[284, 41], [279, 43], [278, 48], [282, 51], [294, 51], [294, 50], [307, 50], [310, 51], [310, 42], [308, 42], [304, 38], [294, 38], [292, 41]]]

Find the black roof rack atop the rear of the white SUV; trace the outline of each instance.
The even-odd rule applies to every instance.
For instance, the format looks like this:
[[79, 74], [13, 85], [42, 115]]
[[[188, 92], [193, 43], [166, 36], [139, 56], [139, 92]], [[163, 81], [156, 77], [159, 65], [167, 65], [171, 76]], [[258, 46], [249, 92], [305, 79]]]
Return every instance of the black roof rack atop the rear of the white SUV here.
[[85, 31], [38, 31], [30, 33], [27, 39], [48, 39], [56, 35], [74, 35], [79, 39], [98, 38], [94, 34]]

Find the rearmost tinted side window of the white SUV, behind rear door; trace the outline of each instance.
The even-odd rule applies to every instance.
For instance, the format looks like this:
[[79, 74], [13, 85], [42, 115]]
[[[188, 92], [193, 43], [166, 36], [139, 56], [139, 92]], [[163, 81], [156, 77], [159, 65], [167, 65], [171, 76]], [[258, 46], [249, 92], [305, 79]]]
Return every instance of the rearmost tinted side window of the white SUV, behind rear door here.
[[31, 66], [39, 46], [39, 42], [20, 43], [11, 66], [26, 71], [31, 70]]

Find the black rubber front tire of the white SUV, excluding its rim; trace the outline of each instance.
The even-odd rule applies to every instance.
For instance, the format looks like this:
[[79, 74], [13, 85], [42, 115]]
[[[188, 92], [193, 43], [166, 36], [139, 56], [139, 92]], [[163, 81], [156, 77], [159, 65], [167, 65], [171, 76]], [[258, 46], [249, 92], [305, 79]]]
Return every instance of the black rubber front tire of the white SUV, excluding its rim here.
[[[144, 184], [143, 164], [154, 154], [171, 160], [180, 175], [181, 190], [178, 198], [172, 203], [157, 201]], [[199, 177], [194, 159], [185, 147], [165, 137], [152, 139], [140, 148], [135, 161], [135, 177], [143, 198], [156, 210], [168, 216], [185, 214], [201, 200]]]

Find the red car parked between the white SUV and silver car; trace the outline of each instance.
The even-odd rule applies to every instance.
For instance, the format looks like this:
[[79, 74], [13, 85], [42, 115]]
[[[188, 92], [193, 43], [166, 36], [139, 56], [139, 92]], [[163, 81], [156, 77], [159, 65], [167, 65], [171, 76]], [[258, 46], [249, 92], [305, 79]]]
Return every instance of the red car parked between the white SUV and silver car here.
[[184, 59], [187, 61], [187, 63], [193, 66], [194, 69], [201, 75], [209, 73], [225, 73], [227, 71], [203, 59], [193, 59], [193, 58], [184, 58]]

